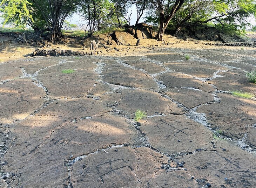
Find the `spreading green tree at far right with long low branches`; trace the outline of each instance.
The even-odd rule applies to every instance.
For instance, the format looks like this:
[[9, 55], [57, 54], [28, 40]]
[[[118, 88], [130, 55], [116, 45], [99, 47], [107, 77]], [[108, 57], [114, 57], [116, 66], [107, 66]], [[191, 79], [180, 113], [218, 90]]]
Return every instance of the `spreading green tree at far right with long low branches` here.
[[248, 18], [255, 15], [255, 0], [189, 0], [175, 14], [172, 24], [174, 35], [186, 26], [212, 21], [216, 27], [245, 29]]

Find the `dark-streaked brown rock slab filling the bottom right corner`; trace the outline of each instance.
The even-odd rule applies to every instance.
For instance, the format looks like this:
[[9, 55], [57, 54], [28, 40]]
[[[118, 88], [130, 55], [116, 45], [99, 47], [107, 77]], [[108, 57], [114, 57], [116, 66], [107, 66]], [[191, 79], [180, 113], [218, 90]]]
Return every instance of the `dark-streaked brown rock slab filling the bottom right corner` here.
[[[246, 159], [246, 160], [244, 160]], [[184, 161], [184, 168], [194, 176], [198, 187], [254, 187], [255, 156], [243, 151], [228, 141], [215, 141], [212, 151], [196, 152], [179, 158]]]

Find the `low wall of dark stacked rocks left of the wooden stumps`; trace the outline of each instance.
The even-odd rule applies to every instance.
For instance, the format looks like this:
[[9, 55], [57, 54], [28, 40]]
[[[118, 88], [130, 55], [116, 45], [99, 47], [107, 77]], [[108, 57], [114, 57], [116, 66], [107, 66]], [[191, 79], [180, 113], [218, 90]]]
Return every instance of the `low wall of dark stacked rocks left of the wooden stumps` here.
[[102, 51], [72, 51], [72, 50], [46, 50], [46, 49], [36, 49], [33, 53], [28, 54], [28, 56], [84, 56], [84, 55], [95, 55], [100, 54]]

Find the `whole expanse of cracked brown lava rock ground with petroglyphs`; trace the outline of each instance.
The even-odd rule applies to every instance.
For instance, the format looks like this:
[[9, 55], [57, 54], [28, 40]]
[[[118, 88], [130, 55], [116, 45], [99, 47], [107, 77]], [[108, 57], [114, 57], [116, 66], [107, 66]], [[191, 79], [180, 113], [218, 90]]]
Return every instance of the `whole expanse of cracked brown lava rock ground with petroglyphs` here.
[[255, 187], [255, 49], [179, 45], [2, 62], [0, 187]]

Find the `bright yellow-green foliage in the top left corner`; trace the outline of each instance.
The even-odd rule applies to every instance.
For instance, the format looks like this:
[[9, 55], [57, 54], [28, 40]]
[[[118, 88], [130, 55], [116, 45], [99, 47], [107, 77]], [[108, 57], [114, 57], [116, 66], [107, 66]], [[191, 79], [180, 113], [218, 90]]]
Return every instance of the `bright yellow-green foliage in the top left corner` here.
[[17, 26], [24, 26], [28, 19], [33, 20], [31, 2], [29, 0], [1, 0], [0, 12], [4, 18], [3, 25], [14, 23]]

